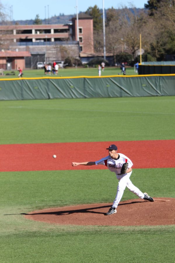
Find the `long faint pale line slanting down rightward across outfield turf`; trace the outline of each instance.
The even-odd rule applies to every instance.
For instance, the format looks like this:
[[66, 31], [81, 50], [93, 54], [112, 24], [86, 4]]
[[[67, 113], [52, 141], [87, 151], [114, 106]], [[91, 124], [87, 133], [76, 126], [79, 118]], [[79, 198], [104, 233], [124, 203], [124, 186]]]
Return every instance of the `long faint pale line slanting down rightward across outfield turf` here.
[[63, 109], [63, 108], [38, 108], [38, 107], [24, 107], [24, 106], [9, 106], [7, 108], [21, 108], [31, 110], [70, 110], [70, 111], [89, 111], [89, 112], [117, 112], [117, 113], [138, 113], [138, 114], [155, 114], [155, 115], [175, 115], [175, 113], [163, 113], [163, 112], [144, 112], [144, 111], [130, 111], [130, 110], [86, 110], [86, 109]]

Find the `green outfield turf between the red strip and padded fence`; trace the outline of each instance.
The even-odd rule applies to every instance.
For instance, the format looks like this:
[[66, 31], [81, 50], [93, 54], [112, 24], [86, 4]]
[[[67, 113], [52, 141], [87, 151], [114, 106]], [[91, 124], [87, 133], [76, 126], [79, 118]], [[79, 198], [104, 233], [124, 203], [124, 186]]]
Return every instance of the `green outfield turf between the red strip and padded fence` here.
[[175, 139], [175, 97], [1, 101], [0, 109], [0, 144]]

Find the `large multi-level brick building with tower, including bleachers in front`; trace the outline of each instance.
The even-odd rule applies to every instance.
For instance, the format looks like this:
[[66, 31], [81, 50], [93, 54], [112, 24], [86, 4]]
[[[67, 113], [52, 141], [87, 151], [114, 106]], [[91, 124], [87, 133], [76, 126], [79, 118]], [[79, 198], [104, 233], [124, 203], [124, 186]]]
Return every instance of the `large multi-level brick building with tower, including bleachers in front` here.
[[3, 25], [0, 38], [9, 41], [10, 51], [27, 51], [31, 54], [25, 68], [34, 68], [36, 62], [64, 60], [66, 57], [91, 56], [93, 47], [93, 19], [89, 15], [78, 15], [66, 25]]

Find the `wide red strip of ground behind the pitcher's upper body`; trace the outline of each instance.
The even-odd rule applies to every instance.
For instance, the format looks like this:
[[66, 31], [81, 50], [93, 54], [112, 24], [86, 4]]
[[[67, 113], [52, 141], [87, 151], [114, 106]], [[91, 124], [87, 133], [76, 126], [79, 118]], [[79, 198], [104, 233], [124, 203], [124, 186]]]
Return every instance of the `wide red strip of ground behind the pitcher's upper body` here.
[[132, 160], [133, 168], [175, 167], [175, 140], [35, 143], [0, 145], [0, 172], [106, 169], [103, 165], [72, 167], [71, 163], [99, 160], [108, 155], [111, 143]]

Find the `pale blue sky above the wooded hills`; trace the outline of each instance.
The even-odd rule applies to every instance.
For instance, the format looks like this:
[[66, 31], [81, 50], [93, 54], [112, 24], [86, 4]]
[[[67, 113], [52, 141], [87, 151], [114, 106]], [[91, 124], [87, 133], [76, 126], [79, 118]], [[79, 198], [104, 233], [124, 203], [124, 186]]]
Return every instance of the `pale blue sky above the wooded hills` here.
[[[78, 12], [86, 11], [89, 6], [97, 5], [99, 8], [103, 7], [102, 0], [77, 0], [78, 1]], [[6, 13], [12, 15], [13, 20], [27, 20], [35, 19], [36, 14], [39, 15], [39, 18], [46, 18], [59, 15], [64, 13], [64, 15], [73, 15], [76, 14], [76, 0], [0, 0], [1, 4], [5, 7]], [[122, 5], [129, 7], [129, 3], [132, 3], [137, 8], [143, 8], [144, 4], [147, 3], [146, 0], [131, 0], [131, 1], [116, 1], [116, 0], [104, 0], [104, 7], [111, 8], [120, 8]], [[45, 8], [46, 6], [46, 8]], [[13, 12], [10, 12], [10, 11]], [[46, 12], [45, 12], [46, 11]]]

